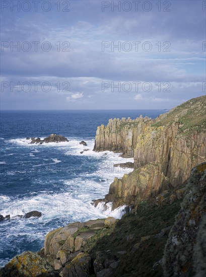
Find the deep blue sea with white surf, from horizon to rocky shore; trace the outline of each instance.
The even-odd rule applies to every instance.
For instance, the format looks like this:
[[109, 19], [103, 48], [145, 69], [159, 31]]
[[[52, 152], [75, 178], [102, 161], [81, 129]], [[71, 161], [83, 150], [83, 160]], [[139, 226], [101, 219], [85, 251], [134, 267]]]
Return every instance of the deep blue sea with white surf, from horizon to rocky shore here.
[[[0, 266], [23, 251], [38, 251], [45, 235], [75, 221], [113, 216], [120, 218], [121, 207], [113, 212], [95, 208], [92, 199], [108, 193], [114, 177], [131, 169], [115, 168], [123, 159], [109, 151], [93, 151], [97, 126], [109, 118], [157, 117], [163, 110], [92, 111], [2, 111], [0, 137], [0, 214], [10, 220], [0, 222]], [[61, 134], [67, 143], [31, 145], [26, 137], [44, 138]], [[88, 146], [80, 145], [84, 140]], [[84, 149], [88, 151], [81, 154]], [[37, 210], [40, 218], [24, 219]]]

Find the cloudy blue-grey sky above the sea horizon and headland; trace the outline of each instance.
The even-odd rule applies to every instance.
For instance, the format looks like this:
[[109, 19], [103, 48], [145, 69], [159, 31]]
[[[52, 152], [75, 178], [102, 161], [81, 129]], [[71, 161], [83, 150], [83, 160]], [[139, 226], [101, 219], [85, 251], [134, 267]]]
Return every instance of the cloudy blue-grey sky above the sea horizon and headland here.
[[1, 109], [170, 109], [206, 94], [206, 2], [1, 1]]

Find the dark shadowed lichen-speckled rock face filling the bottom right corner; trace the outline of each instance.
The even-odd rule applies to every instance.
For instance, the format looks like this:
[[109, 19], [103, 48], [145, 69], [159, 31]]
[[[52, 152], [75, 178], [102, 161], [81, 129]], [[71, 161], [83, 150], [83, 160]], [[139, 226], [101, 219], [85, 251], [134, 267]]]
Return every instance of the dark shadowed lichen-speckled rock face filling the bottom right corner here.
[[191, 171], [181, 210], [169, 234], [163, 257], [165, 277], [194, 276], [195, 271], [196, 276], [203, 276], [205, 215], [206, 163], [203, 163]]

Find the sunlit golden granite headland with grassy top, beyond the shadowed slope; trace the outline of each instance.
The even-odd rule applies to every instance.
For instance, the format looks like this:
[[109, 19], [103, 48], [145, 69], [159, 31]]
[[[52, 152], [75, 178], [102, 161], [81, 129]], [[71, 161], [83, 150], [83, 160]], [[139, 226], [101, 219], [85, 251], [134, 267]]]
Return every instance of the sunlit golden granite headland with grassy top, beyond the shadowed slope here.
[[[114, 179], [102, 199], [113, 208], [183, 183], [206, 160], [206, 97], [191, 99], [151, 120], [110, 120], [98, 127], [95, 151], [123, 152], [134, 158], [134, 171]], [[95, 202], [95, 205], [97, 205]]]

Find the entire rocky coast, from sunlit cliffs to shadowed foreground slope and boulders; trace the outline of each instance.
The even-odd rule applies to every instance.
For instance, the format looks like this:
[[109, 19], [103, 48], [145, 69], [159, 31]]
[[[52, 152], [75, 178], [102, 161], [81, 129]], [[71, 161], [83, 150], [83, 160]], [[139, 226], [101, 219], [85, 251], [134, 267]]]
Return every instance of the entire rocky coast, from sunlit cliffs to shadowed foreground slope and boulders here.
[[52, 230], [44, 248], [14, 257], [0, 276], [203, 277], [205, 108], [202, 96], [156, 119], [110, 119], [98, 127], [94, 150], [133, 157], [128, 166], [134, 170], [115, 178], [105, 198], [94, 204], [125, 205], [127, 213], [121, 220], [74, 222]]

